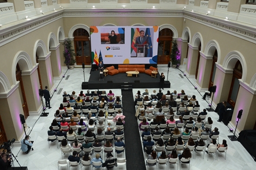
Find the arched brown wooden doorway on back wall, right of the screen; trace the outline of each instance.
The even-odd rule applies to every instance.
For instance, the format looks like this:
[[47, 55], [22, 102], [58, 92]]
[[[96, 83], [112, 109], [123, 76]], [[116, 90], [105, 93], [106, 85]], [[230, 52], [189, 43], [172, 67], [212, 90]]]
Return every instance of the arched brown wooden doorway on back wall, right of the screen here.
[[159, 31], [157, 64], [168, 64], [172, 47], [172, 31], [164, 28]]

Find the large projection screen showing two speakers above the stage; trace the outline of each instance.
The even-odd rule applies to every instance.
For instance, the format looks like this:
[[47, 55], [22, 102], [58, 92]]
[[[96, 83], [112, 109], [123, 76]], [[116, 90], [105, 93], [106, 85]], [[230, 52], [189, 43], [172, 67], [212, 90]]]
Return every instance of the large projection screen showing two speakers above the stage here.
[[158, 26], [92, 26], [90, 32], [93, 64], [157, 64]]

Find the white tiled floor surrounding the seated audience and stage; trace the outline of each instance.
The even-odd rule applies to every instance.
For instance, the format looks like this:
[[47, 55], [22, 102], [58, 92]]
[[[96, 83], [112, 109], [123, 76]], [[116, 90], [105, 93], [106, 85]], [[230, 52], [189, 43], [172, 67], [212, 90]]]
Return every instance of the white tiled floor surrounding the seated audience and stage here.
[[[184, 70], [185, 67], [180, 67], [181, 70]], [[163, 72], [165, 75], [165, 80], [167, 80], [167, 72], [168, 68], [165, 66], [158, 66], [159, 72]], [[67, 73], [66, 73], [67, 71]], [[85, 80], [89, 79], [89, 71], [90, 68], [85, 68]], [[35, 141], [33, 148], [34, 151], [31, 151], [29, 154], [23, 154], [20, 151], [20, 147], [12, 148], [12, 152], [14, 155], [17, 155], [17, 160], [21, 164], [21, 166], [28, 166], [28, 169], [57, 169], [57, 160], [61, 159], [61, 151], [57, 149], [56, 142], [52, 143], [50, 148], [48, 147], [47, 142], [47, 130], [50, 126], [50, 123], [54, 119], [54, 113], [56, 109], [59, 107], [59, 104], [62, 101], [63, 91], [67, 91], [67, 93], [71, 94], [74, 90], [76, 93], [79, 93], [81, 90], [81, 83], [84, 81], [84, 75], [82, 72], [82, 68], [77, 68], [74, 70], [66, 70], [63, 68], [63, 73], [65, 74], [65, 78], [62, 81], [55, 81], [57, 85], [57, 91], [54, 93], [53, 98], [51, 100], [52, 109], [47, 110], [50, 114], [47, 117], [39, 117], [39, 115], [30, 115], [28, 117], [27, 125], [31, 129], [31, 140]], [[164, 89], [164, 94], [167, 93], [167, 90], [173, 91], [177, 90], [178, 93], [183, 89], [186, 94], [194, 94], [196, 95], [196, 99], [199, 101], [201, 106], [201, 110], [203, 108], [207, 108], [208, 103], [201, 99], [201, 95], [197, 90], [194, 89], [191, 83], [195, 83], [195, 79], [190, 79], [188, 81], [187, 77], [181, 78], [179, 75], [181, 74], [183, 77], [183, 73], [178, 69], [169, 69], [168, 80], [171, 82], [171, 87], [168, 89]], [[69, 75], [68, 80], [66, 77]], [[63, 89], [61, 92], [58, 91]], [[99, 90], [109, 90], [109, 89], [99, 89]], [[113, 93], [116, 95], [121, 95], [120, 89], [112, 89]], [[136, 94], [137, 91], [144, 91], [144, 89], [133, 89], [133, 94]], [[156, 89], [158, 90], [158, 89]], [[153, 89], [149, 89], [149, 92], [152, 93]], [[59, 93], [60, 94], [57, 94]], [[84, 90], [85, 92], [85, 90]], [[124, 97], [124, 96], [123, 96]], [[123, 103], [125, 104], [125, 103]], [[124, 113], [125, 114], [125, 113]], [[213, 156], [210, 156], [209, 161], [207, 161], [207, 154], [204, 155], [204, 159], [202, 159], [202, 153], [198, 153], [195, 156], [195, 159], [191, 160], [190, 169], [255, 169], [256, 163], [254, 162], [251, 155], [242, 147], [240, 142], [230, 141], [227, 138], [227, 135], [232, 135], [228, 132], [228, 127], [223, 123], [217, 122], [218, 115], [214, 112], [208, 113], [208, 116], [211, 116], [214, 123], [213, 127], [218, 127], [220, 130], [220, 142], [223, 139], [227, 140], [228, 150], [227, 150], [227, 158], [226, 160], [223, 158], [223, 154], [219, 156], [216, 161]], [[67, 159], [68, 155], [64, 156], [64, 159]], [[126, 158], [129, 159], [129, 158]], [[15, 166], [17, 162], [15, 161]], [[169, 168], [173, 168], [170, 166]], [[177, 166], [176, 166], [177, 167]], [[175, 167], [175, 168], [176, 168]], [[180, 167], [180, 166], [179, 166]], [[254, 168], [253, 168], [254, 167]], [[121, 167], [119, 167], [122, 169]], [[164, 169], [165, 166], [158, 166], [158, 169]], [[182, 169], [188, 169], [187, 165], [182, 165]], [[64, 168], [63, 168], [64, 169]], [[75, 169], [75, 168], [74, 168]], [[88, 169], [88, 168], [87, 168]], [[124, 168], [123, 168], [124, 169]], [[149, 169], [155, 169], [155, 167], [151, 167]]]

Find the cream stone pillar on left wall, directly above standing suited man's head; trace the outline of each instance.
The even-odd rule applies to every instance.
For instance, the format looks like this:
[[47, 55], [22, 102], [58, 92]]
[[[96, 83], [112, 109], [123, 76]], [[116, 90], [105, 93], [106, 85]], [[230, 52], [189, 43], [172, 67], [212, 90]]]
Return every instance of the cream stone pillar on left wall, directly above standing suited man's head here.
[[46, 56], [39, 57], [39, 69], [41, 74], [41, 81], [43, 88], [48, 86], [48, 90], [52, 89], [53, 83], [53, 73], [52, 73], [52, 64], [50, 62], [50, 53]]

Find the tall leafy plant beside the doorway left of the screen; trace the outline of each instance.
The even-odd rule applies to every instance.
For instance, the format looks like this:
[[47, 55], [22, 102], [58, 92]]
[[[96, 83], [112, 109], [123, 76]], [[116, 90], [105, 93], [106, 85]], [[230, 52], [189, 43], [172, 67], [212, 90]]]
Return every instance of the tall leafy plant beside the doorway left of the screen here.
[[65, 57], [65, 64], [69, 69], [74, 69], [75, 65], [75, 50], [72, 48], [72, 41], [71, 40], [66, 40], [64, 42], [64, 48], [65, 50], [63, 51], [63, 56]]

